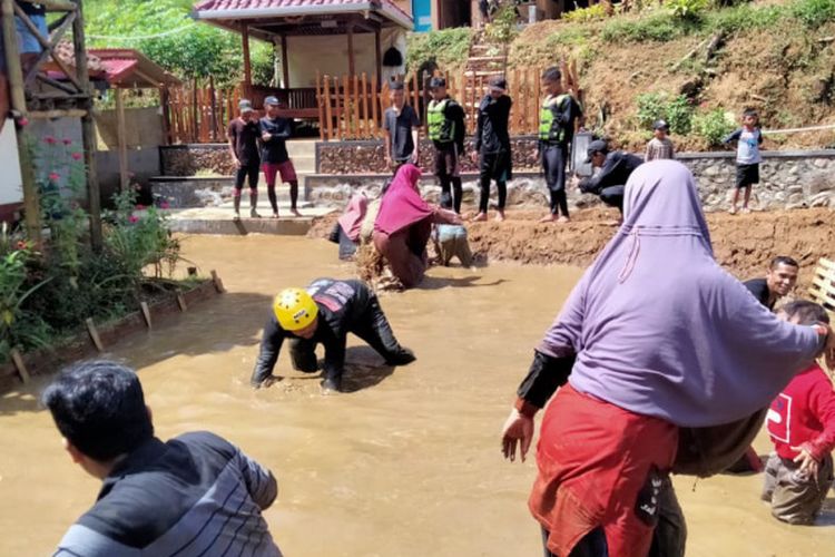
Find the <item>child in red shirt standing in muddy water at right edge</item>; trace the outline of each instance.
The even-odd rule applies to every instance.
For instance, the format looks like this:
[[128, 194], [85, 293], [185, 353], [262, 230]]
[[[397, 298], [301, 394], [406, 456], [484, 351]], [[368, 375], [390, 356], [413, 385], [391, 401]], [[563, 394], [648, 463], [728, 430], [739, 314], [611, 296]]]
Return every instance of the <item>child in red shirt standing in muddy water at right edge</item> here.
[[[821, 305], [797, 301], [778, 316], [795, 324], [828, 323]], [[833, 483], [835, 391], [824, 370], [813, 363], [774, 399], [766, 418], [775, 452], [766, 465], [763, 499], [772, 514], [789, 524], [815, 521]]]

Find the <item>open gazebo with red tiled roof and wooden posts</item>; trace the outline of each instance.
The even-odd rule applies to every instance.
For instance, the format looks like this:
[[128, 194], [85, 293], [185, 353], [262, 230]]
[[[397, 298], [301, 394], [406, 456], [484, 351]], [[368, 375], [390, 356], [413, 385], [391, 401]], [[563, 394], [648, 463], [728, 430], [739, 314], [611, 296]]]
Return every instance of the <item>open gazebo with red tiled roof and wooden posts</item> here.
[[[411, 30], [412, 17], [399, 8], [392, 0], [204, 0], [195, 4], [193, 17], [198, 21], [240, 33], [244, 50], [244, 79], [245, 91], [253, 100], [258, 102], [261, 97], [267, 92], [276, 94], [288, 102], [288, 115], [295, 117], [315, 117], [317, 106], [313, 84], [291, 84], [291, 68], [288, 62], [288, 39], [297, 40], [299, 43], [305, 37], [322, 38], [317, 42], [328, 45], [326, 52], [315, 52], [314, 48], [298, 47], [304, 52], [305, 68], [318, 68], [320, 65], [334, 63], [334, 55], [341, 58], [342, 51], [346, 51], [344, 58], [345, 69], [348, 75], [357, 72], [357, 41], [364, 39], [357, 36], [374, 36], [373, 57], [377, 76], [377, 86], [382, 74], [381, 33], [385, 30]], [[333, 42], [333, 37], [345, 36], [344, 47], [342, 43]], [[263, 88], [253, 87], [252, 65], [249, 59], [249, 37], [255, 37], [273, 45], [282, 47], [282, 74], [283, 89], [266, 91]], [[326, 39], [330, 37], [331, 39]], [[311, 42], [306, 42], [311, 45]], [[324, 47], [323, 47], [324, 48]], [[328, 50], [330, 49], [330, 50]], [[362, 52], [369, 52], [369, 45]], [[302, 56], [302, 55], [294, 55]], [[318, 56], [318, 59], [316, 59]], [[371, 60], [361, 59], [361, 62], [371, 65]], [[341, 62], [340, 62], [341, 63]], [[301, 66], [296, 63], [296, 66]], [[305, 86], [305, 87], [302, 87]], [[295, 89], [302, 95], [292, 95]], [[310, 90], [308, 90], [310, 89]], [[310, 106], [308, 106], [310, 105]], [[310, 113], [310, 114], [308, 114]]]

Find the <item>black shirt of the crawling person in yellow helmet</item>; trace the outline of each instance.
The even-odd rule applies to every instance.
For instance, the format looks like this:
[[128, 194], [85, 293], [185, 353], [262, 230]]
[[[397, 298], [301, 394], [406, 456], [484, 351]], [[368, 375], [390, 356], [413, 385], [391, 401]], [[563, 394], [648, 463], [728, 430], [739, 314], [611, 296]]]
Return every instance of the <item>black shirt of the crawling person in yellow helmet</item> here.
[[318, 306], [318, 325], [312, 339], [299, 339], [285, 331], [275, 315], [269, 316], [264, 326], [261, 352], [253, 371], [252, 384], [258, 385], [266, 380], [278, 361], [278, 353], [285, 339], [298, 339], [298, 342], [323, 344], [325, 346], [325, 377], [341, 374], [345, 365], [345, 344], [347, 333], [360, 323], [370, 307], [371, 290], [362, 281], [335, 281], [317, 278], [307, 292]]

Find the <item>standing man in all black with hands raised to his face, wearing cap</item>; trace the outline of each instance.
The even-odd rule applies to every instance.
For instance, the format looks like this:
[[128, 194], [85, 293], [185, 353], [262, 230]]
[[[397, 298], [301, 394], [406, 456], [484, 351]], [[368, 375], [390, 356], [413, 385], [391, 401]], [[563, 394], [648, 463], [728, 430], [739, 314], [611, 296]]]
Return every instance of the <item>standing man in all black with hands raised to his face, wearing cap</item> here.
[[495, 219], [504, 221], [504, 203], [508, 198], [508, 180], [512, 178], [510, 134], [508, 120], [513, 105], [505, 95], [508, 81], [497, 76], [489, 81], [489, 91], [479, 104], [479, 118], [473, 138], [473, 160], [479, 156], [479, 214], [473, 221], [487, 221], [490, 205], [490, 180], [495, 180], [499, 203], [495, 205]]

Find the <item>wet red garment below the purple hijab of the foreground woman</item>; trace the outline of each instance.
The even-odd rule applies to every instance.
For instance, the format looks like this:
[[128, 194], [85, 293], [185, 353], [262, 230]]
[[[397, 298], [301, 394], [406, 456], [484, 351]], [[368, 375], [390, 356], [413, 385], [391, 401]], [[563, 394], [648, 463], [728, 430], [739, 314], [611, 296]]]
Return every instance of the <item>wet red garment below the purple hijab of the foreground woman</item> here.
[[529, 500], [550, 532], [548, 548], [567, 556], [602, 527], [609, 555], [646, 557], [658, 517], [654, 486], [672, 467], [677, 443], [678, 428], [665, 420], [560, 389], [542, 420]]

